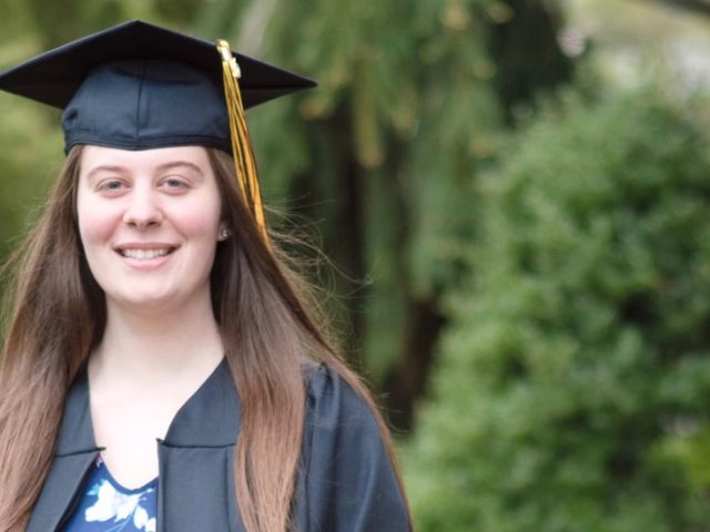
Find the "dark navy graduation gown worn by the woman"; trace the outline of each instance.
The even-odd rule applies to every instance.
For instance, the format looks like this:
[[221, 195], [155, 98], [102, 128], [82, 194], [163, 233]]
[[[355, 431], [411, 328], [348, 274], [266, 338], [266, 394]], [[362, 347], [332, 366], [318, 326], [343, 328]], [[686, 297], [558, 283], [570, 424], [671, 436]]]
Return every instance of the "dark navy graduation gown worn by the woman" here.
[[[240, 401], [226, 361], [179, 410], [158, 441], [158, 532], [241, 532], [232, 477]], [[85, 372], [72, 386], [54, 461], [28, 532], [61, 530], [98, 453]], [[408, 531], [409, 521], [377, 423], [332, 370], [308, 379], [293, 516], [306, 531]]]

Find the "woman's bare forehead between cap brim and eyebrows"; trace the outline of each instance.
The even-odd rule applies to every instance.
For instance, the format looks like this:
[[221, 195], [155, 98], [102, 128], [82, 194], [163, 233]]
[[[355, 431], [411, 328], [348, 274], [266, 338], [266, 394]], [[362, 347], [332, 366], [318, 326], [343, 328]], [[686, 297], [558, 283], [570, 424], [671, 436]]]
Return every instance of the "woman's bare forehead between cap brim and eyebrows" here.
[[126, 170], [151, 170], [164, 165], [187, 163], [204, 173], [211, 173], [207, 151], [202, 146], [173, 146], [154, 150], [119, 150], [114, 147], [84, 146], [81, 153], [81, 174], [100, 166], [119, 166]]

